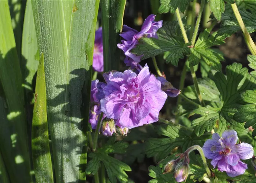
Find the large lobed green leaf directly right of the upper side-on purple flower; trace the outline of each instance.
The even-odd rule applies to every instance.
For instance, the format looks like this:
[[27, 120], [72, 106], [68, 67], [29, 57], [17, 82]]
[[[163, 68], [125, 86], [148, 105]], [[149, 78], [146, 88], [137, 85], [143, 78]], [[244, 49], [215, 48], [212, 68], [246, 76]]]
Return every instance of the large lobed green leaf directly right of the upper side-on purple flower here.
[[[185, 24], [185, 19], [183, 20]], [[187, 27], [188, 28], [188, 27]], [[177, 21], [167, 22], [158, 30], [159, 39], [140, 38], [139, 44], [132, 49], [132, 53], [143, 55], [141, 60], [165, 53], [166, 63], [171, 62], [177, 66], [183, 54], [189, 54], [188, 46], [185, 44]]]

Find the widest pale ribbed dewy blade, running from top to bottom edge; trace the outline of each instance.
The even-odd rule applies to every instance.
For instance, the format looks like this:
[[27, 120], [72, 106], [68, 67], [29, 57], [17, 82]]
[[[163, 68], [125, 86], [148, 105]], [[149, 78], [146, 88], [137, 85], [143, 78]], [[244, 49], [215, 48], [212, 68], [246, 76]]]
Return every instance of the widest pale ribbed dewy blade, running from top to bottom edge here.
[[[72, 7], [69, 1], [32, 0], [38, 47], [40, 53], [44, 53], [56, 182], [86, 179], [83, 170], [87, 161], [90, 98], [87, 88], [91, 85], [98, 6], [98, 0], [75, 0]], [[67, 30], [70, 30], [69, 36]], [[81, 112], [81, 108], [85, 110]]]

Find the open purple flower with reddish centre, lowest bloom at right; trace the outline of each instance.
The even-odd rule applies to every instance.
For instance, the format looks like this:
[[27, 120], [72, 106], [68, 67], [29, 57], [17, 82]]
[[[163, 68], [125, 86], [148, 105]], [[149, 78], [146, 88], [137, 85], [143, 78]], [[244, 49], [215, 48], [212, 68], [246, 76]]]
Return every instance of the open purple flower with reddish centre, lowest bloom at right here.
[[207, 140], [203, 146], [206, 158], [212, 160], [212, 166], [214, 168], [218, 166], [218, 170], [227, 172], [230, 177], [244, 174], [247, 164], [241, 160], [247, 160], [253, 156], [253, 147], [247, 143], [237, 144], [237, 139], [236, 131], [226, 130], [222, 138], [214, 133], [212, 140]]

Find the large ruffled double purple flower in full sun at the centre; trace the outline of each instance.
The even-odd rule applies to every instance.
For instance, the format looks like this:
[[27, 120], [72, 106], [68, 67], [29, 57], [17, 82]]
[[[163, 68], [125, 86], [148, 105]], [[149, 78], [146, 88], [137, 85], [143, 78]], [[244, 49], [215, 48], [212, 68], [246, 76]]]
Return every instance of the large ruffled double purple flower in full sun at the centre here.
[[117, 126], [131, 129], [158, 121], [167, 95], [147, 65], [138, 75], [126, 70], [104, 73], [103, 77], [107, 85], [103, 88], [105, 98], [100, 100], [101, 111], [115, 119]]

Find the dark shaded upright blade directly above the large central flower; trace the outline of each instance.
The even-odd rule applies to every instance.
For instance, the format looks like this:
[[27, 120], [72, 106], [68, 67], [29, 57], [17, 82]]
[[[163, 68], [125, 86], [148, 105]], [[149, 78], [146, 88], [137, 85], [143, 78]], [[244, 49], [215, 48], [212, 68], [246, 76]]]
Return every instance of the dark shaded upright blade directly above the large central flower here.
[[119, 70], [121, 50], [120, 32], [123, 27], [126, 0], [101, 0], [104, 71]]

